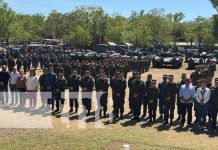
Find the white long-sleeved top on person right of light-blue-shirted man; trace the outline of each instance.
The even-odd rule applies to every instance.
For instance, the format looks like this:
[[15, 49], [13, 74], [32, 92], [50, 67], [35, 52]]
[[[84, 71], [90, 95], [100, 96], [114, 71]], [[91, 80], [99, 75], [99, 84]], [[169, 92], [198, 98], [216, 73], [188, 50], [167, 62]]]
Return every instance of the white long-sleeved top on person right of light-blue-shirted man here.
[[202, 88], [198, 88], [196, 92], [196, 101], [198, 103], [202, 102], [202, 99], [204, 98], [203, 103], [206, 104], [210, 100], [210, 89], [206, 88], [205, 90], [202, 90]]

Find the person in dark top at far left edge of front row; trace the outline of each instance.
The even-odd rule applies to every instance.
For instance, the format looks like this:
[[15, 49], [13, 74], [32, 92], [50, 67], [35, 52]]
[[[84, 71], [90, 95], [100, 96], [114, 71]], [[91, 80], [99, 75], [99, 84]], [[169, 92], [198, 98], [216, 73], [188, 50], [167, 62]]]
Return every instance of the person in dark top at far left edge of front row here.
[[2, 71], [0, 72], [0, 92], [2, 98], [2, 104], [8, 103], [8, 83], [10, 79], [10, 73], [6, 69], [5, 65], [2, 66]]

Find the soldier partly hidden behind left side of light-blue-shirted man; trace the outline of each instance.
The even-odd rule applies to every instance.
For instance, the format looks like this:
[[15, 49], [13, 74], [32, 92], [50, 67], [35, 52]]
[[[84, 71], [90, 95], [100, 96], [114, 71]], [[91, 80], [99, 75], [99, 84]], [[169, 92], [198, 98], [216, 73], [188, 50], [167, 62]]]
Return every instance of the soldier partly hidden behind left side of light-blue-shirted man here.
[[185, 84], [185, 81], [186, 81], [186, 74], [182, 74], [181, 81], [179, 83], [177, 83], [177, 86], [178, 86], [178, 92], [177, 92], [178, 118], [177, 118], [177, 121], [180, 121], [182, 118], [182, 110], [181, 110], [182, 108], [181, 108], [181, 102], [180, 102], [180, 97], [179, 97], [179, 91], [180, 91], [180, 87]]

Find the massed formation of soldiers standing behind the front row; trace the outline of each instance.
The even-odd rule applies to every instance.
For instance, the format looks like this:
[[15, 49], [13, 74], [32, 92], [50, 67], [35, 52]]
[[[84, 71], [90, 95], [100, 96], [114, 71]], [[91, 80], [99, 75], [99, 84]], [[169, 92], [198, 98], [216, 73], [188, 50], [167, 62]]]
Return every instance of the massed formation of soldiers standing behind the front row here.
[[17, 66], [17, 70], [24, 69], [24, 72], [30, 70], [31, 66], [35, 69], [40, 65], [41, 68], [54, 68], [54, 72], [57, 74], [61, 68], [63, 68], [65, 78], [70, 76], [72, 70], [77, 69], [78, 73], [84, 75], [86, 69], [91, 70], [92, 76], [96, 76], [99, 70], [104, 70], [108, 77], [114, 76], [116, 70], [121, 70], [125, 76], [129, 71], [137, 71], [144, 73], [149, 70], [150, 58], [134, 58], [134, 57], [117, 57], [117, 58], [104, 58], [98, 59], [80, 59], [74, 58], [64, 59], [59, 53], [27, 53], [20, 55], [18, 58], [14, 58], [10, 54], [0, 55], [0, 65], [6, 65], [9, 68], [9, 72]]

